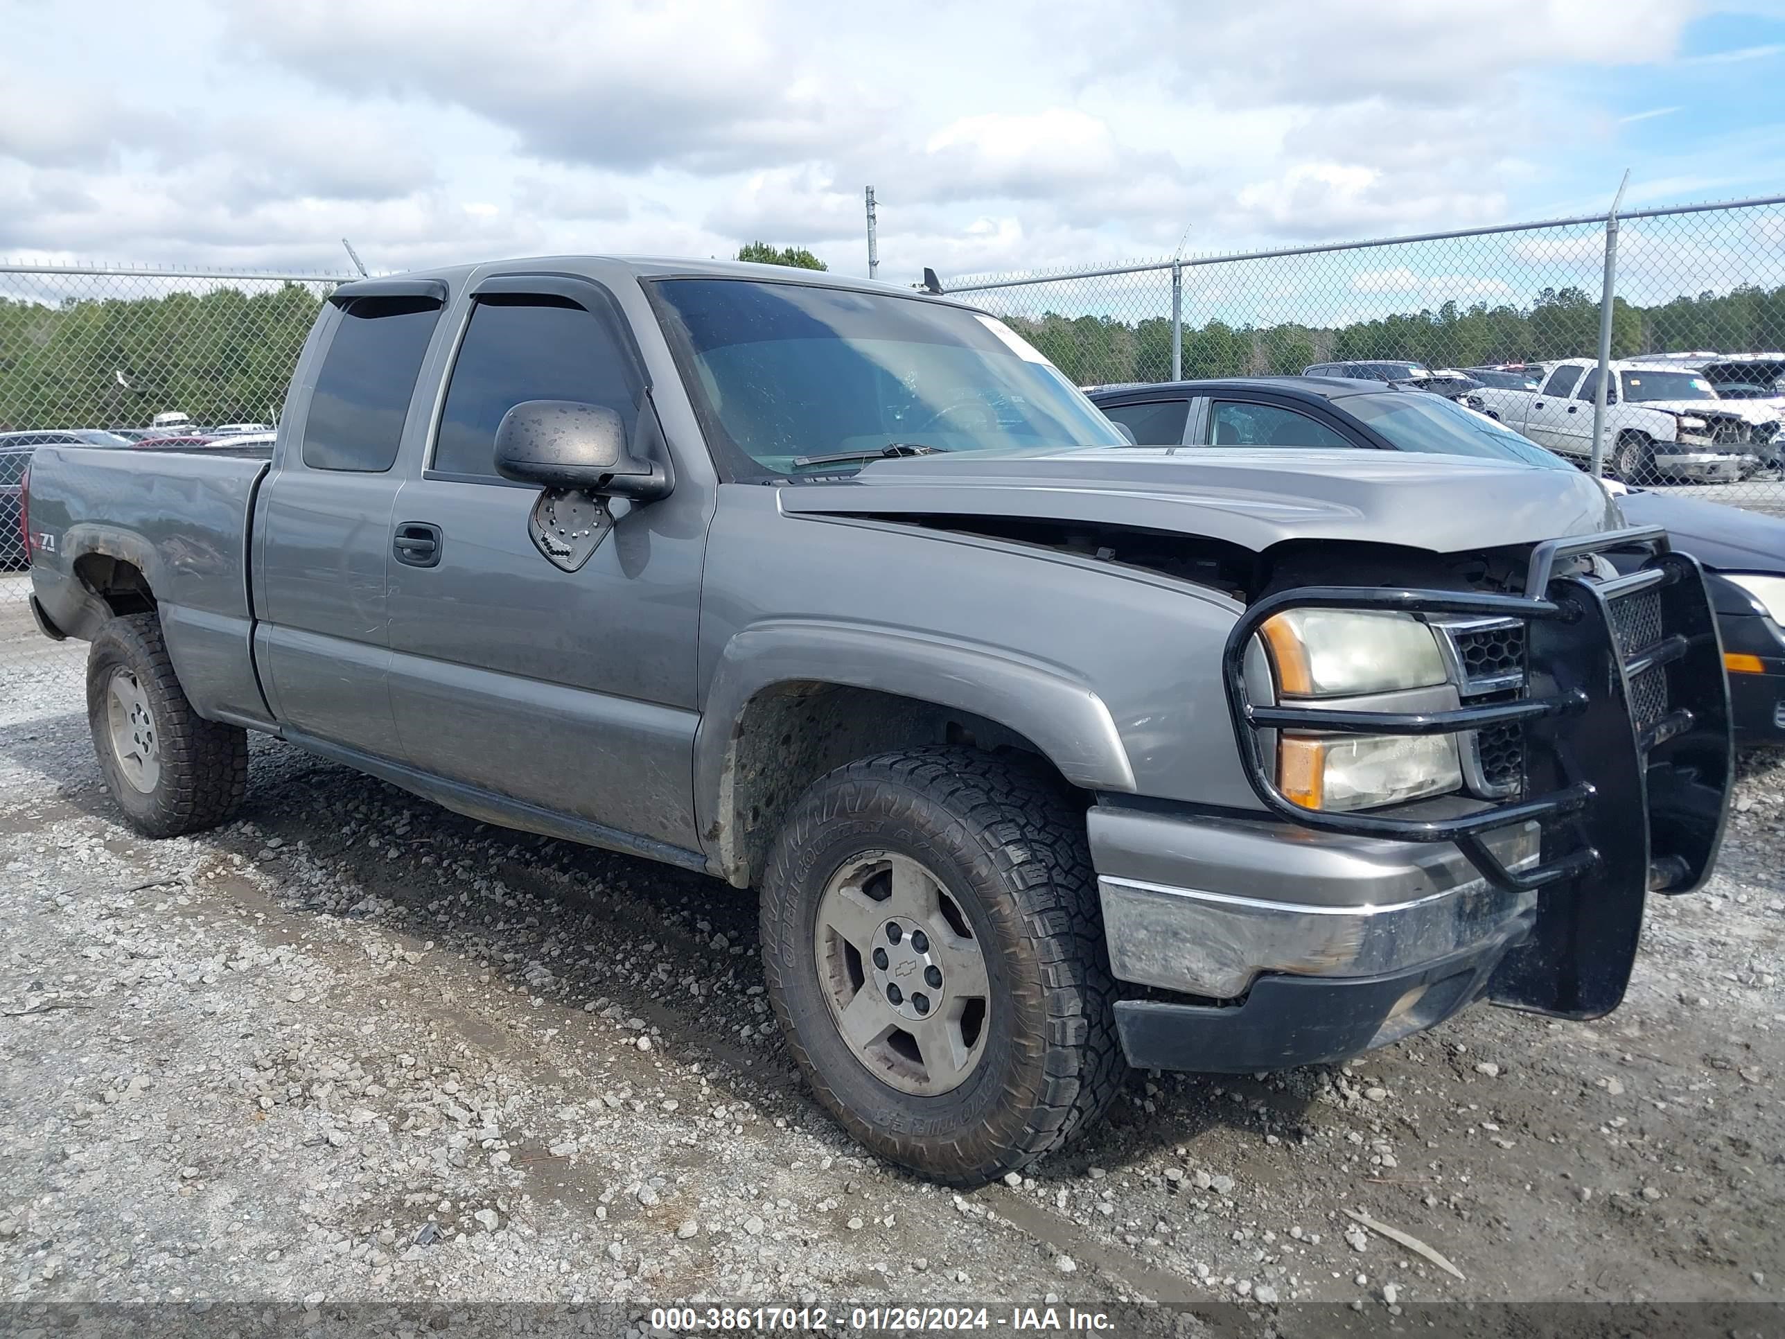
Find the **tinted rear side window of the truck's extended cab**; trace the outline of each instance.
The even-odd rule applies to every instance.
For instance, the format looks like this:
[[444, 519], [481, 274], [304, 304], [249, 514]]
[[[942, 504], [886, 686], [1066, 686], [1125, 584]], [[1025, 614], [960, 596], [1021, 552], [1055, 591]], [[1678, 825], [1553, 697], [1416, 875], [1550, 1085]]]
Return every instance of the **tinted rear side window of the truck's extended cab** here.
[[346, 305], [316, 373], [303, 464], [391, 468], [439, 314], [432, 298], [355, 298]]

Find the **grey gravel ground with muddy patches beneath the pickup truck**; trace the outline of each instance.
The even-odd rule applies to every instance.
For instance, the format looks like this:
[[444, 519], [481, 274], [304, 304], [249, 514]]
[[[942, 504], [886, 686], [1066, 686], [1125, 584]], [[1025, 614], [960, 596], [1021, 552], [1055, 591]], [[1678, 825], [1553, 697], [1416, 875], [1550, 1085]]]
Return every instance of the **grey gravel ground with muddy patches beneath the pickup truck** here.
[[[1624, 1007], [1478, 1007], [1349, 1066], [1135, 1075], [973, 1194], [805, 1096], [753, 900], [259, 741], [152, 843], [77, 648], [0, 605], [0, 1275], [14, 1300], [1771, 1300], [1785, 762]], [[1369, 1232], [1412, 1234], [1460, 1271]]]

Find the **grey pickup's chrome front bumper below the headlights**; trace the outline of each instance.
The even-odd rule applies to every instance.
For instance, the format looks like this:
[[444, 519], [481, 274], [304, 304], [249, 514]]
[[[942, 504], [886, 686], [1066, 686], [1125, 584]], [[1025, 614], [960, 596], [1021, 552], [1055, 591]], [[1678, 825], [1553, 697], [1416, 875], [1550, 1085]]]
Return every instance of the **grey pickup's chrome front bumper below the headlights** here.
[[[1489, 844], [1530, 866], [1537, 825]], [[1264, 973], [1385, 977], [1510, 943], [1537, 905], [1535, 889], [1494, 887], [1449, 843], [1100, 805], [1091, 850], [1114, 975], [1212, 1000]]]

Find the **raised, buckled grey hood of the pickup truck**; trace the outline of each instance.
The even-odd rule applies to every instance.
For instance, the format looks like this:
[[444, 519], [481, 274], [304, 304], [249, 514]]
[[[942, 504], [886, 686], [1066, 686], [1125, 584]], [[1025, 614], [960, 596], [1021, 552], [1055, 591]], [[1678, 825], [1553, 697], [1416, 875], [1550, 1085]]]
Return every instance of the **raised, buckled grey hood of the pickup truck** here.
[[875, 461], [780, 489], [803, 516], [1005, 516], [1225, 539], [1353, 539], [1458, 553], [1615, 528], [1587, 475], [1371, 450], [1098, 446]]

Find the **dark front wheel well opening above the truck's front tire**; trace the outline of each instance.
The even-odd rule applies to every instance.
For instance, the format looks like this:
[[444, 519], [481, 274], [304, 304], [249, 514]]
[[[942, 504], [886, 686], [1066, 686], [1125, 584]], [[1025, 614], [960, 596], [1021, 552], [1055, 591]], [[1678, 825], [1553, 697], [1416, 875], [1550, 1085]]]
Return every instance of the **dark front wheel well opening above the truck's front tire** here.
[[[709, 839], [719, 848], [725, 877], [737, 887], [760, 882], [789, 807], [826, 771], [921, 744], [1030, 753], [1060, 775], [1026, 736], [975, 712], [818, 680], [773, 684], [744, 705], [719, 773]], [[1067, 784], [1064, 777], [1060, 784]]]

